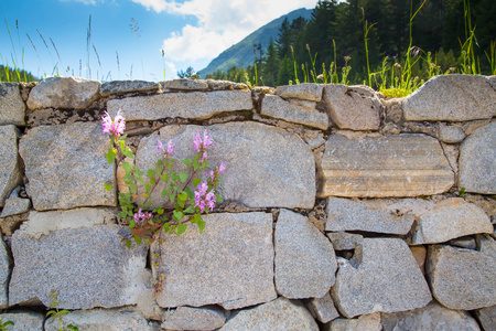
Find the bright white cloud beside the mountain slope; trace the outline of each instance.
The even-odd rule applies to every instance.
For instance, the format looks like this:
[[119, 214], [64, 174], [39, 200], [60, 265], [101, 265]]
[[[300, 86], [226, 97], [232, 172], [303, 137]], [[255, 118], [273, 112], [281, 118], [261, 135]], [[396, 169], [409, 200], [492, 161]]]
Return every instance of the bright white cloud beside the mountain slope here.
[[169, 61], [212, 60], [268, 22], [317, 0], [131, 0], [148, 10], [193, 15], [197, 25], [185, 25], [163, 41]]

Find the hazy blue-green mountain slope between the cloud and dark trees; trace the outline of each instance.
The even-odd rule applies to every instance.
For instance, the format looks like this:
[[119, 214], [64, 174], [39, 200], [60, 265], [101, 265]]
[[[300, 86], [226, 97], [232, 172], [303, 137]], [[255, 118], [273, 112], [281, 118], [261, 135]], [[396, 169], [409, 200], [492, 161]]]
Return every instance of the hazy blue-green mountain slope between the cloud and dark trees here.
[[310, 20], [312, 17], [312, 10], [304, 8], [296, 9], [280, 17], [279, 19], [271, 21], [270, 23], [267, 23], [241, 40], [239, 43], [234, 44], [226, 51], [222, 52], [220, 55], [212, 60], [207, 67], [198, 72], [200, 76], [204, 78], [206, 75], [213, 74], [218, 70], [222, 72], [227, 72], [227, 70], [233, 65], [236, 65], [237, 67], [241, 67], [241, 65], [244, 65], [247, 67], [248, 65], [254, 64], [254, 45], [261, 43], [262, 50], [265, 51], [269, 45], [271, 38], [273, 40], [278, 39], [279, 28], [281, 26], [282, 21], [288, 18], [291, 22], [299, 17]]

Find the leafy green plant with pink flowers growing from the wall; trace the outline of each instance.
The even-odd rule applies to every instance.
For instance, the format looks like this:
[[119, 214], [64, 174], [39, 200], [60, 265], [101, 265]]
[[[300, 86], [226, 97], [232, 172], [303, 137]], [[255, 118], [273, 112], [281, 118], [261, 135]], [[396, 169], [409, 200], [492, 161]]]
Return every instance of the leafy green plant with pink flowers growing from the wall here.
[[[119, 192], [119, 204], [121, 212], [119, 217], [129, 224], [131, 236], [125, 237], [123, 241], [128, 247], [131, 246], [133, 238], [137, 244], [151, 244], [155, 239], [162, 242], [162, 234], [176, 234], [180, 236], [187, 228], [187, 223], [198, 226], [202, 234], [205, 228], [205, 221], [202, 214], [208, 214], [215, 207], [215, 203], [222, 202], [222, 197], [216, 193], [216, 188], [222, 182], [220, 174], [226, 171], [226, 163], [222, 162], [215, 168], [208, 164], [207, 149], [213, 146], [211, 137], [204, 130], [203, 137], [198, 131], [193, 136], [193, 147], [196, 154], [192, 159], [179, 160], [173, 157], [174, 146], [169, 140], [166, 146], [158, 140], [157, 149], [163, 153], [154, 168], [148, 169], [145, 172], [138, 169], [134, 163], [128, 162], [126, 159], [134, 159], [129, 147], [126, 147], [126, 127], [125, 118], [117, 113], [114, 119], [108, 113], [103, 118], [104, 135], [109, 136], [110, 147], [106, 153], [109, 164], [115, 161], [125, 170], [125, 184], [129, 188], [128, 192]], [[180, 162], [188, 168], [187, 172], [173, 171], [174, 163]], [[206, 172], [206, 179], [200, 175]], [[159, 206], [152, 206], [151, 196], [159, 186], [164, 183], [165, 189], [160, 192], [163, 202]], [[105, 184], [107, 190], [111, 190], [111, 184]], [[144, 192], [141, 188], [144, 188]], [[193, 190], [192, 190], [193, 188]], [[142, 201], [139, 202], [139, 199]], [[154, 256], [153, 264], [161, 266], [161, 253]], [[164, 280], [163, 274], [160, 271], [155, 279], [155, 290], [162, 289]]]

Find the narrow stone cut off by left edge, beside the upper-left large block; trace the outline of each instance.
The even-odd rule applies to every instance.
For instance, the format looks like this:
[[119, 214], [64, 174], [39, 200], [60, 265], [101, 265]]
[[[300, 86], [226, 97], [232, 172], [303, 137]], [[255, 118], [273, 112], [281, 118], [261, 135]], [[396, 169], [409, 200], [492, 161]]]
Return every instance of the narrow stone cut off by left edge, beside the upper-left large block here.
[[18, 129], [0, 126], [0, 206], [10, 192], [22, 181], [22, 169], [18, 154]]

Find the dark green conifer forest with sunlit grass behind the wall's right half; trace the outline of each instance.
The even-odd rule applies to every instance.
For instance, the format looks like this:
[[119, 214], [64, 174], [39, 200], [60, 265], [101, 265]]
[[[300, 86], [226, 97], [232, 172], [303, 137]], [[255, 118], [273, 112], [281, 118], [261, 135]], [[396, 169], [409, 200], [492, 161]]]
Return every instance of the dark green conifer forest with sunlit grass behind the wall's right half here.
[[409, 84], [446, 72], [495, 74], [494, 18], [494, 0], [319, 1], [309, 20], [283, 21], [256, 67], [227, 64], [227, 71], [207, 77], [269, 86], [298, 77], [378, 87], [405, 79], [407, 72]]

